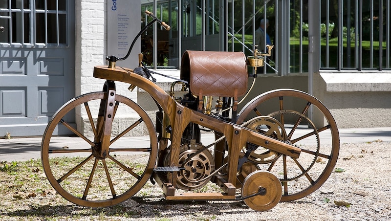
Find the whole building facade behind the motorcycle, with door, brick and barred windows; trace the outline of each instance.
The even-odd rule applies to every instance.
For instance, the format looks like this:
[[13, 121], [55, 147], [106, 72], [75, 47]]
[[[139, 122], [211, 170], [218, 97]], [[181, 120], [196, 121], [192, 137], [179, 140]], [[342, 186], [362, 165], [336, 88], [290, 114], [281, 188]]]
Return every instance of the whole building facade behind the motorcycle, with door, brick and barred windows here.
[[[118, 13], [124, 8], [126, 15]], [[0, 136], [42, 135], [66, 101], [101, 90], [93, 66], [120, 54], [119, 28], [126, 29], [121, 45], [129, 46], [151, 21], [145, 10], [172, 26], [152, 25], [133, 49], [158, 72], [179, 77], [185, 50], [251, 55], [255, 31], [268, 19], [275, 48], [249, 97], [296, 88], [323, 101], [340, 128], [391, 126], [390, 0], [4, 0]], [[119, 24], [119, 15], [130, 19]], [[135, 54], [119, 65], [137, 66]], [[169, 87], [172, 80], [158, 81]], [[153, 111], [142, 91], [127, 88], [117, 84], [119, 93]], [[83, 125], [83, 114], [69, 118]]]

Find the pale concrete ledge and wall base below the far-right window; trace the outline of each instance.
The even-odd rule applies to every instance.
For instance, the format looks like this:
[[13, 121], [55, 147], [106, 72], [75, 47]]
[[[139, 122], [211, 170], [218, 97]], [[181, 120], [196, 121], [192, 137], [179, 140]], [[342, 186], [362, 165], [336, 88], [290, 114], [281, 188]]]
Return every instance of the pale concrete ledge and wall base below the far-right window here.
[[338, 128], [391, 127], [391, 72], [314, 73], [313, 88]]

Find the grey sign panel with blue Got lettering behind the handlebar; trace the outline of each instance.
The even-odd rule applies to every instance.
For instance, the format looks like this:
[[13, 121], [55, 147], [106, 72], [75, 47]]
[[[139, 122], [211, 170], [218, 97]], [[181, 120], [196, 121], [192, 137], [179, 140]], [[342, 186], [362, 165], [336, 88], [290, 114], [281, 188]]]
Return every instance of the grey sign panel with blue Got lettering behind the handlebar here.
[[[141, 27], [141, 0], [107, 1], [107, 55], [123, 58]], [[118, 61], [117, 66], [134, 68], [138, 66], [138, 53], [141, 51], [140, 39], [134, 44], [130, 56]]]

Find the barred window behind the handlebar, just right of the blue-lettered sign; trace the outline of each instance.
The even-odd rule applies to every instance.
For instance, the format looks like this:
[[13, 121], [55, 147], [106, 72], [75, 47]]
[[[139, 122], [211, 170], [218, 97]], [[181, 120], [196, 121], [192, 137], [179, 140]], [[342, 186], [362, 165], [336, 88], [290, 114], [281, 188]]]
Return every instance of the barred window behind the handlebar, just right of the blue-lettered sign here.
[[152, 21], [151, 17], [145, 15], [145, 10], [154, 12], [157, 18], [171, 26], [171, 30], [166, 31], [157, 24], [142, 35], [144, 63], [158, 68], [179, 68], [185, 50], [224, 50], [224, 36], [220, 31], [220, 17], [224, 16], [220, 12], [221, 2], [142, 0], [142, 27]]

